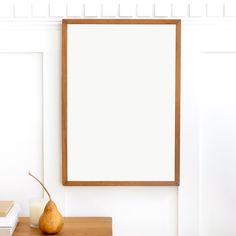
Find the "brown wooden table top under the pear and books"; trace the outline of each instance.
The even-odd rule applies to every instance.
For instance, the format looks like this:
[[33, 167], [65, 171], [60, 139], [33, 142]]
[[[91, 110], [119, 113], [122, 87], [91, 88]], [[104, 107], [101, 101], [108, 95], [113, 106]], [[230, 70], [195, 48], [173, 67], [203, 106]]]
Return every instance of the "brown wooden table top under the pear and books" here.
[[[60, 236], [112, 236], [111, 217], [65, 217]], [[43, 235], [39, 229], [31, 228], [28, 217], [20, 217], [13, 236]]]

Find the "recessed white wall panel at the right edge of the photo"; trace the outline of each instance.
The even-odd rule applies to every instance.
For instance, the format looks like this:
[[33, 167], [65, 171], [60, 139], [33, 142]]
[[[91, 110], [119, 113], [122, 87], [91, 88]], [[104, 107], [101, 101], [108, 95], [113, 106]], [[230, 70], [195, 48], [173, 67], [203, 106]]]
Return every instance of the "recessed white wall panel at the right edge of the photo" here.
[[201, 68], [201, 236], [236, 231], [235, 52], [202, 54]]

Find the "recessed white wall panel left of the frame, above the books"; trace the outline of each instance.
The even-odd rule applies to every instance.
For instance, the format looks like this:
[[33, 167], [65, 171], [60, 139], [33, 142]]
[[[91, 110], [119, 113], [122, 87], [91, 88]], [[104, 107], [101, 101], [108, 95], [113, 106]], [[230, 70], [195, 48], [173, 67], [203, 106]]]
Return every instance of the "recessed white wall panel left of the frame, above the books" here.
[[29, 199], [42, 188], [28, 176], [43, 178], [42, 54], [0, 53], [0, 189], [28, 214]]

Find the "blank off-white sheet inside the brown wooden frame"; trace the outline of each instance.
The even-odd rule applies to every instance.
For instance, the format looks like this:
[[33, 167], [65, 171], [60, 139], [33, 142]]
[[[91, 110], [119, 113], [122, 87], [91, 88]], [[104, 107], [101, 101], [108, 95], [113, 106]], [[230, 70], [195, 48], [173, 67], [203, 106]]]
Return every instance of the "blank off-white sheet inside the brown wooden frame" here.
[[176, 26], [67, 30], [68, 181], [174, 181]]

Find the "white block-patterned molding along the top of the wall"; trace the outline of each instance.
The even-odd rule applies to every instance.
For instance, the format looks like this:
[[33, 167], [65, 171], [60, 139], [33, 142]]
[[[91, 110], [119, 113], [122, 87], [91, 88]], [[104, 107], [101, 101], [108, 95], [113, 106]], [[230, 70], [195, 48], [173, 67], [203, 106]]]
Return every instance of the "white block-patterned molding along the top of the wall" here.
[[236, 3], [122, 3], [83, 4], [80, 2], [26, 2], [1, 3], [0, 21], [3, 19], [47, 19], [62, 17], [168, 17], [168, 18], [233, 18]]

